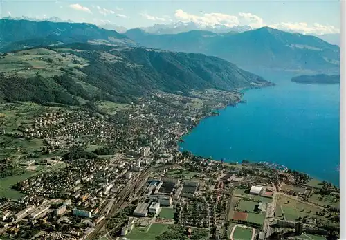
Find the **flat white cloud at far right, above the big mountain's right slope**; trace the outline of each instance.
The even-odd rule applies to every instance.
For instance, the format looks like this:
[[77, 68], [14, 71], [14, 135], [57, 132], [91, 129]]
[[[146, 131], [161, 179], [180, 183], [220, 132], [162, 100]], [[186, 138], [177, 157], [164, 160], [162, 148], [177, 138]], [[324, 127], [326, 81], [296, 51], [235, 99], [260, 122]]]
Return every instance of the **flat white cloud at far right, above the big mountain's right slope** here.
[[340, 33], [340, 29], [331, 25], [322, 25], [318, 23], [307, 24], [304, 22], [293, 23], [293, 22], [282, 22], [279, 24], [269, 25], [271, 28], [277, 28], [284, 31], [290, 31], [295, 33], [304, 33], [304, 34], [316, 34], [322, 35], [327, 33]]

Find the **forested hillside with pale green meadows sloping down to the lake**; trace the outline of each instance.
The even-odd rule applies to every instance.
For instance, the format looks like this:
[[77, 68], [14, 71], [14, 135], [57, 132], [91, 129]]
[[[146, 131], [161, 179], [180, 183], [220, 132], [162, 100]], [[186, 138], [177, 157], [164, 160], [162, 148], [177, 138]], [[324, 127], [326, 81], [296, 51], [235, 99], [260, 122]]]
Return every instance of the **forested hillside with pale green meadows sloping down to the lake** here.
[[13, 62], [12, 71], [0, 74], [0, 99], [41, 104], [130, 103], [148, 91], [189, 95], [192, 90], [272, 85], [224, 59], [150, 48], [66, 44], [0, 58], [6, 69]]

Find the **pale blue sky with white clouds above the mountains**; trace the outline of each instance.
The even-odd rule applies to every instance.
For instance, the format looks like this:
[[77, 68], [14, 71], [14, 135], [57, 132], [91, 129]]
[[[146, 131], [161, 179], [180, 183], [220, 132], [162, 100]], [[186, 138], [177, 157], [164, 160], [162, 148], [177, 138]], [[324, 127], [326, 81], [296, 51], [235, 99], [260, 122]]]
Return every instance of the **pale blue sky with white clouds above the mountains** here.
[[137, 28], [176, 21], [201, 26], [270, 26], [306, 34], [340, 32], [339, 1], [64, 1], [0, 0], [1, 17], [59, 17]]

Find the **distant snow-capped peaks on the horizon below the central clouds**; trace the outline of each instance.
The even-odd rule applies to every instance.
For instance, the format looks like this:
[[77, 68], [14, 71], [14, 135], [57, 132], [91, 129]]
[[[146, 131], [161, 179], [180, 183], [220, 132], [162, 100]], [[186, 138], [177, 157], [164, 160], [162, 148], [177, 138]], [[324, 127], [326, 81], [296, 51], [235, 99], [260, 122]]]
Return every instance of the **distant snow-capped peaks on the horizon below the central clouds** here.
[[241, 33], [247, 30], [251, 30], [250, 26], [234, 26], [228, 27], [226, 25], [205, 25], [197, 24], [194, 22], [182, 22], [177, 21], [173, 24], [155, 24], [154, 26], [143, 27], [141, 28], [147, 33], [152, 34], [176, 34], [176, 33], [185, 33], [191, 30], [206, 30], [213, 33], [228, 33], [228, 32], [237, 32]]

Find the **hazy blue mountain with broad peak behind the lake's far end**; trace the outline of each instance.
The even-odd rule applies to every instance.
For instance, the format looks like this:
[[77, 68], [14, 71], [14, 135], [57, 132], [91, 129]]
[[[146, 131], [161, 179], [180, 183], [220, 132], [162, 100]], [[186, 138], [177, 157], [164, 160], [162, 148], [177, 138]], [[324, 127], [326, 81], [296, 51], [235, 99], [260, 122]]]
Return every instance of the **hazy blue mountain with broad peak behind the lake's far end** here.
[[242, 33], [187, 33], [154, 35], [140, 28], [125, 35], [142, 46], [226, 59], [242, 68], [275, 68], [288, 71], [334, 73], [340, 66], [340, 48], [318, 37], [258, 28]]

